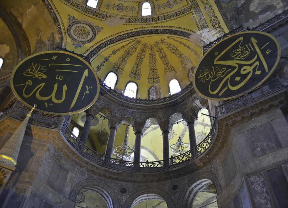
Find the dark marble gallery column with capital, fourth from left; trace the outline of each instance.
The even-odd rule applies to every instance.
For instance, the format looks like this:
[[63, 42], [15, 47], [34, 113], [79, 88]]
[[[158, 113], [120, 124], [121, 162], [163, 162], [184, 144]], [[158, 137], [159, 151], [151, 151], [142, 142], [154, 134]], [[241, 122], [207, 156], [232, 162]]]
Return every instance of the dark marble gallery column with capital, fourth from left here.
[[163, 135], [163, 160], [166, 160], [164, 161], [164, 165], [168, 165], [170, 159], [169, 132], [171, 131], [172, 126], [169, 121], [162, 122], [159, 126]]

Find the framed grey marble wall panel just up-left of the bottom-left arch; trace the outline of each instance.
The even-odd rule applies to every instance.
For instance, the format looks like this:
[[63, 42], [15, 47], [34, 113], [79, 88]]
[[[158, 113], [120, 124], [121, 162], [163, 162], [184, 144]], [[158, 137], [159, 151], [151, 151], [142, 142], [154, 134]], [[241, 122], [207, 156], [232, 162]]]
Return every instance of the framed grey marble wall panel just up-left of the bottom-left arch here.
[[47, 184], [55, 191], [62, 193], [67, 180], [68, 170], [58, 162], [54, 162], [50, 171]]

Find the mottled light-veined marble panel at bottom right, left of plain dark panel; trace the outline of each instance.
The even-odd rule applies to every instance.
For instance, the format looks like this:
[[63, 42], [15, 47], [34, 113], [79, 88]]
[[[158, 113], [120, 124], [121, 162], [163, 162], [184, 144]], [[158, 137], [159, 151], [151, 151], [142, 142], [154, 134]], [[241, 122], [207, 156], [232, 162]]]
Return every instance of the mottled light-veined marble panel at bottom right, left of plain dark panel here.
[[256, 208], [274, 207], [263, 174], [248, 177], [248, 183]]

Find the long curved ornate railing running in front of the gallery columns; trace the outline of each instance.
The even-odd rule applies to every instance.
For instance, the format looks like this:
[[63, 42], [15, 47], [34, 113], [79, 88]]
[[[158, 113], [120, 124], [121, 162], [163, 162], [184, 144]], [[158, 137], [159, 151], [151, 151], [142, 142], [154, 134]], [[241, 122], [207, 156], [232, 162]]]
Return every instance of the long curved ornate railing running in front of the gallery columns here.
[[159, 160], [152, 162], [131, 162], [123, 159], [109, 158], [105, 155], [99, 154], [98, 152], [84, 145], [84, 143], [82, 143], [72, 134], [71, 130], [69, 129], [69, 124], [66, 122], [66, 120], [63, 122], [60, 133], [76, 152], [78, 152], [80, 155], [87, 158], [91, 162], [94, 162], [95, 164], [119, 171], [156, 172], [168, 169], [172, 166], [180, 166], [183, 163], [189, 162], [190, 160], [193, 160], [199, 155], [203, 154], [209, 148], [217, 135], [217, 121], [215, 120], [210, 133], [201, 143], [197, 145], [196, 148], [181, 155], [175, 157], [172, 156], [167, 160]]

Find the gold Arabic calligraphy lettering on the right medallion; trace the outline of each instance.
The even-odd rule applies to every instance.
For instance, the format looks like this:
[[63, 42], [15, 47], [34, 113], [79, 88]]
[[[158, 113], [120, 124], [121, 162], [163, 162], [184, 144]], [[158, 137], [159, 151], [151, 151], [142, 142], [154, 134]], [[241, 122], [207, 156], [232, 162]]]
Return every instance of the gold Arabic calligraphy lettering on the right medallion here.
[[[203, 67], [203, 69], [199, 71], [198, 79], [200, 79], [201, 82], [210, 82], [210, 94], [219, 93], [219, 96], [221, 96], [228, 88], [230, 90], [239, 89], [250, 79], [253, 73], [255, 75], [261, 74], [262, 70], [259, 68], [260, 62], [262, 63], [266, 73], [268, 72], [268, 66], [259, 47], [257, 46], [257, 40], [252, 37], [251, 43], [245, 44], [245, 46], [241, 46], [242, 41], [243, 37], [239, 37], [219, 55], [216, 52], [215, 55], [217, 57], [214, 60], [215, 66], [209, 65], [206, 68]], [[223, 59], [222, 56], [236, 44], [238, 44], [239, 46], [230, 53], [230, 57], [232, 57], [232, 60], [221, 60], [221, 58]], [[266, 46], [269, 46], [269, 42], [265, 46], [263, 46], [261, 50]], [[266, 54], [269, 54], [270, 52], [270, 49], [266, 50]], [[253, 54], [255, 54], [255, 56], [253, 56], [250, 60], [247, 60], [249, 55], [251, 54], [252, 56]], [[239, 65], [244, 66], [242, 66], [239, 70]], [[241, 75], [235, 76], [236, 72], [240, 72]], [[245, 78], [243, 79], [242, 77]], [[220, 80], [220, 83], [218, 79]], [[216, 80], [218, 80], [217, 84], [219, 85], [215, 87]]]

